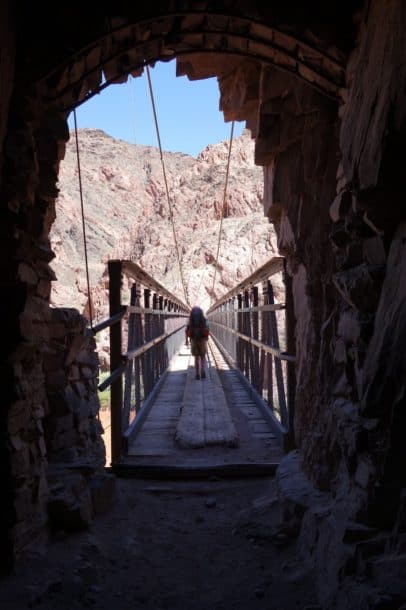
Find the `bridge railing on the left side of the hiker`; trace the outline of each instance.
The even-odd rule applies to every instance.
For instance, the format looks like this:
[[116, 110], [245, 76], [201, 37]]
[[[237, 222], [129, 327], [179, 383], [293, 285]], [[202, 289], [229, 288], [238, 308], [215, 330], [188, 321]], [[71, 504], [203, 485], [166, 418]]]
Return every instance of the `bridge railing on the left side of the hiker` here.
[[[111, 388], [114, 464], [126, 452], [137, 419], [184, 341], [189, 308], [135, 263], [111, 260], [108, 271], [110, 317], [93, 332], [110, 328], [110, 375], [99, 390]], [[122, 303], [123, 276], [129, 280], [129, 305]]]

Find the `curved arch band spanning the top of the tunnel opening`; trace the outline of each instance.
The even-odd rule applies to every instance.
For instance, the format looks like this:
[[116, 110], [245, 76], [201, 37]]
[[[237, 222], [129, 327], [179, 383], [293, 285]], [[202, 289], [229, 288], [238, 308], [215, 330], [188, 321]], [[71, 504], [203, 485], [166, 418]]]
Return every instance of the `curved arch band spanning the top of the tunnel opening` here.
[[[140, 20], [112, 19], [98, 37], [40, 78], [51, 100], [69, 108], [100, 86], [139, 75], [147, 63], [192, 54], [253, 59], [290, 72], [322, 94], [339, 99], [346, 55], [306, 33], [230, 10], [159, 12]], [[105, 84], [102, 85], [102, 76]], [[54, 96], [54, 97], [52, 97]]]

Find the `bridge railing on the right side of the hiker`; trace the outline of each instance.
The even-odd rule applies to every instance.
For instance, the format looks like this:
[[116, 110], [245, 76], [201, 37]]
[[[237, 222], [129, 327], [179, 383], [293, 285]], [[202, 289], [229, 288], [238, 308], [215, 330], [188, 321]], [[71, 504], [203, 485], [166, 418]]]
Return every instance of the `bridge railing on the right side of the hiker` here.
[[[274, 280], [284, 286], [275, 303]], [[284, 446], [294, 445], [294, 315], [285, 260], [275, 257], [219, 299], [207, 312], [210, 332]]]

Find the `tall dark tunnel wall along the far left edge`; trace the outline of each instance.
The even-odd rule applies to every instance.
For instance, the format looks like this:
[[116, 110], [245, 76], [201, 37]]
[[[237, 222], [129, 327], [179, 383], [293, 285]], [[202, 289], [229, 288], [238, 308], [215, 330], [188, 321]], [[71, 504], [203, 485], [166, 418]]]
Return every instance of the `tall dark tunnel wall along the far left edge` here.
[[[49, 531], [49, 458], [56, 456], [58, 447], [58, 440], [56, 437], [51, 440], [50, 431], [56, 434], [63, 430], [60, 421], [51, 425], [49, 406], [55, 397], [52, 390], [49, 403], [51, 386], [46, 385], [44, 362], [51, 345], [51, 282], [56, 279], [49, 265], [54, 258], [49, 231], [55, 219], [59, 162], [69, 131], [66, 117], [50, 108], [45, 110], [40, 91], [24, 77], [25, 65], [20, 58], [18, 77], [8, 92], [10, 102], [8, 96], [2, 98], [5, 114], [9, 103], [1, 179], [0, 280], [2, 294], [7, 295], [1, 306], [5, 329], [1, 371], [5, 391], [0, 420], [5, 492], [0, 538], [5, 569], [27, 546]], [[54, 373], [58, 378], [66, 372]], [[94, 381], [91, 383], [94, 386]], [[47, 416], [48, 438], [44, 430]], [[83, 421], [77, 425], [81, 429]], [[99, 433], [95, 428], [94, 439], [86, 445], [83, 434], [75, 437], [65, 429], [64, 442], [67, 445], [68, 438], [77, 442], [78, 457], [83, 458], [92, 444], [101, 443]], [[75, 451], [74, 446], [72, 449]], [[59, 472], [59, 490], [61, 478]], [[83, 488], [89, 494], [89, 486], [88, 477], [78, 489]]]

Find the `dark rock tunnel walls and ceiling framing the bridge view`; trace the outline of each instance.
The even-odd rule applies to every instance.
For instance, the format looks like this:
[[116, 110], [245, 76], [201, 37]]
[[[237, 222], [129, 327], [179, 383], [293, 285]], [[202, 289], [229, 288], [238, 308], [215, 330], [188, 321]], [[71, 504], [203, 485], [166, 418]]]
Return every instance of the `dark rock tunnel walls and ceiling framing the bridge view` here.
[[[317, 568], [320, 603], [401, 608], [403, 2], [119, 1], [103, 9], [8, 1], [0, 9], [2, 563], [10, 570], [49, 528], [49, 233], [68, 116], [145, 66], [175, 60], [178, 76], [217, 78], [225, 121], [245, 121], [263, 167], [296, 354], [285, 464], [329, 499], [327, 512], [304, 512], [298, 533]], [[387, 606], [366, 594], [356, 605], [354, 583], [365, 578]]]

